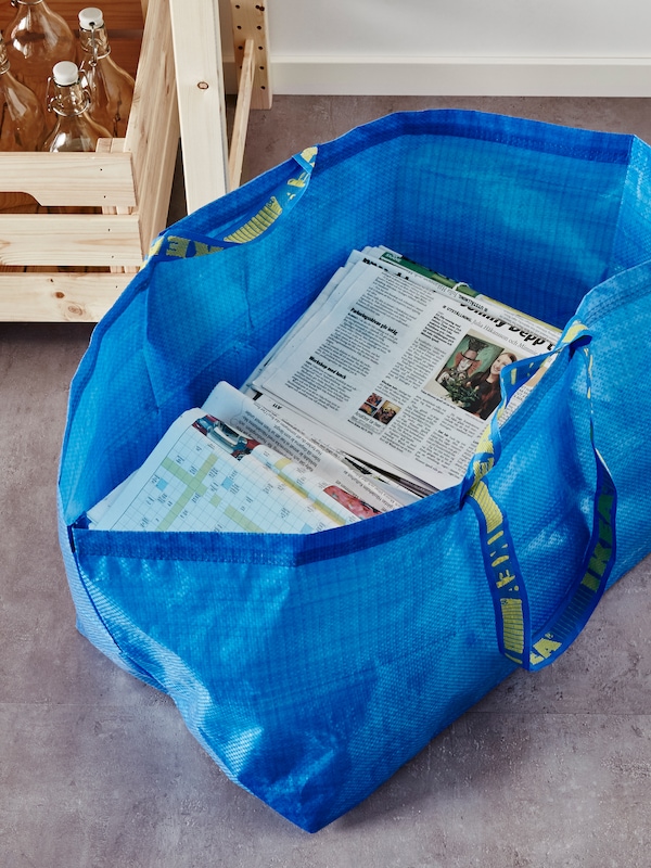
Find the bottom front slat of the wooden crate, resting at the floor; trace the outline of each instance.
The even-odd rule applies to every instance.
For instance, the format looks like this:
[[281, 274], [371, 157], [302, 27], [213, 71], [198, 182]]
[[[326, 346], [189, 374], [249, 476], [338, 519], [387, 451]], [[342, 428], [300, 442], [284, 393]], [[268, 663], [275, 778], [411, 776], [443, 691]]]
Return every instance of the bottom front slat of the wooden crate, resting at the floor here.
[[130, 275], [0, 273], [0, 321], [98, 322]]

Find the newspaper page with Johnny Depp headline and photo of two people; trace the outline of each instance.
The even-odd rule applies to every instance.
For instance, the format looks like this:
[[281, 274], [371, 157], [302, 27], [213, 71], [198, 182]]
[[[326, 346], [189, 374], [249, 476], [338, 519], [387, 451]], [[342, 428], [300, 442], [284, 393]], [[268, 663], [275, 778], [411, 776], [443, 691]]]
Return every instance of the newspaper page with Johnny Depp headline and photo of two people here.
[[[499, 372], [553, 347], [528, 318], [356, 252], [248, 387], [433, 488], [464, 475], [500, 401]], [[399, 268], [397, 269], [399, 271]], [[443, 286], [443, 284], [441, 284]], [[515, 408], [522, 399], [516, 393]]]

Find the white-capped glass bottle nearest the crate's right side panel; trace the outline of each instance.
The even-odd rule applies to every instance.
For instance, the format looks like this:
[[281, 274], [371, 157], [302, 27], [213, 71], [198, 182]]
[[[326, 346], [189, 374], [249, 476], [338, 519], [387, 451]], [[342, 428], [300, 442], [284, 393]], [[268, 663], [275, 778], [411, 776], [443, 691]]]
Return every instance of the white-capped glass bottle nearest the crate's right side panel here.
[[111, 58], [101, 9], [79, 12], [79, 72], [90, 93], [90, 114], [116, 138], [123, 138], [133, 100], [133, 79]]

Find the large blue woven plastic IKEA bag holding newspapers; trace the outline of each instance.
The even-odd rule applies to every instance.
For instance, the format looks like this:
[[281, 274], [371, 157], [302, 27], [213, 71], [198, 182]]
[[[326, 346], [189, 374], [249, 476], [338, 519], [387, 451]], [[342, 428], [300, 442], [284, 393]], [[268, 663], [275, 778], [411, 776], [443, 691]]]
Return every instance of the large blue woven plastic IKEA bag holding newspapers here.
[[[515, 666], [553, 661], [651, 549], [651, 396], [629, 363], [651, 327], [650, 154], [630, 136], [392, 115], [171, 227], [97, 327], [60, 476], [78, 626], [299, 827], [352, 808]], [[565, 329], [464, 482], [309, 536], [85, 529], [366, 244]], [[512, 390], [531, 371], [507, 372]]]

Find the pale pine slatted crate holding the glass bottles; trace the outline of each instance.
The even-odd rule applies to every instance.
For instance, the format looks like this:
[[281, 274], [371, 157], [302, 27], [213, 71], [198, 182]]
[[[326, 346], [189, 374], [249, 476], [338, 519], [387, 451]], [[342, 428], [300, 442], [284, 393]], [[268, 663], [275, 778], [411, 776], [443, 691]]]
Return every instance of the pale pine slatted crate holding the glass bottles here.
[[[49, 5], [78, 27], [84, 3]], [[0, 153], [0, 191], [41, 205], [0, 214], [1, 321], [98, 321], [165, 228], [179, 141], [169, 2], [99, 5], [116, 62], [136, 77], [127, 132], [95, 153]]]

